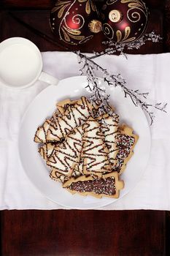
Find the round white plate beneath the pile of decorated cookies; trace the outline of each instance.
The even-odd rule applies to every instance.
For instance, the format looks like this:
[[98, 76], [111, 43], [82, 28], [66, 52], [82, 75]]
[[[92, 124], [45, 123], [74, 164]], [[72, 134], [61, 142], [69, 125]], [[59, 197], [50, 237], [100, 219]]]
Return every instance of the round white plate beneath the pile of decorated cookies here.
[[[101, 85], [104, 82], [101, 80]], [[58, 86], [49, 86], [42, 91], [28, 107], [20, 127], [19, 151], [23, 168], [28, 178], [50, 200], [61, 206], [69, 208], [99, 208], [115, 202], [117, 199], [103, 197], [82, 197], [72, 195], [61, 187], [59, 182], [49, 178], [50, 169], [40, 157], [37, 143], [34, 143], [34, 134], [37, 127], [45, 118], [50, 117], [55, 110], [55, 103], [62, 99], [77, 99], [81, 96], [89, 96], [85, 89], [87, 80], [77, 76], [66, 78], [58, 83]], [[125, 99], [123, 91], [112, 87], [107, 91], [110, 103], [115, 106], [116, 113], [120, 115], [120, 121], [134, 128], [139, 135], [139, 140], [134, 148], [134, 156], [128, 162], [121, 178], [125, 181], [125, 187], [120, 192], [120, 198], [133, 189], [141, 179], [150, 156], [150, 127], [147, 118], [141, 108], [136, 108], [131, 99]]]

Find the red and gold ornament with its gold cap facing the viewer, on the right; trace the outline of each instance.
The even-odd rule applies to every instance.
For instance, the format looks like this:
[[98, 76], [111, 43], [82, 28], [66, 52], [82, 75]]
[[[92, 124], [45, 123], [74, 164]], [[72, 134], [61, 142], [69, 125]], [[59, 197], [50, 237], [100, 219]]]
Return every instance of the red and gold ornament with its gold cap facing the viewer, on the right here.
[[107, 0], [101, 17], [106, 37], [115, 42], [133, 42], [146, 29], [148, 12], [142, 0]]

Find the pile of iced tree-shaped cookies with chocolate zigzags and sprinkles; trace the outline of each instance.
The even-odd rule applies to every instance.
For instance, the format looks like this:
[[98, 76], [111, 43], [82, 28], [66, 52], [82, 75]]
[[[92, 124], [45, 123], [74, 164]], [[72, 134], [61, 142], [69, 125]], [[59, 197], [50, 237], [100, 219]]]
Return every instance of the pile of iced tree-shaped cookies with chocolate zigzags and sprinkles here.
[[[111, 108], [112, 109], [112, 108]], [[120, 175], [138, 136], [110, 111], [98, 116], [86, 97], [58, 102], [55, 113], [38, 127], [34, 141], [50, 167], [50, 178], [79, 195], [119, 197]]]

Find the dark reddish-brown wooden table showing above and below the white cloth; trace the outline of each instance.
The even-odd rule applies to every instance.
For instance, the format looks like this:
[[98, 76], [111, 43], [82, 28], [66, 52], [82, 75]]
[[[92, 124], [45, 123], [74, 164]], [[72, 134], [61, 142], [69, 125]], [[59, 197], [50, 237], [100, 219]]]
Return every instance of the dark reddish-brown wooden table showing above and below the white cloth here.
[[[40, 50], [62, 47], [34, 34], [14, 20], [9, 11], [53, 37], [48, 24], [54, 1], [1, 0], [0, 41], [8, 37], [31, 39]], [[164, 1], [148, 0], [153, 29], [163, 35]], [[102, 36], [80, 50], [101, 50]], [[95, 45], [95, 48], [94, 48]], [[166, 44], [147, 45], [133, 53], [163, 53]], [[115, 255], [163, 256], [169, 251], [169, 212], [166, 211], [1, 211], [2, 256]]]

